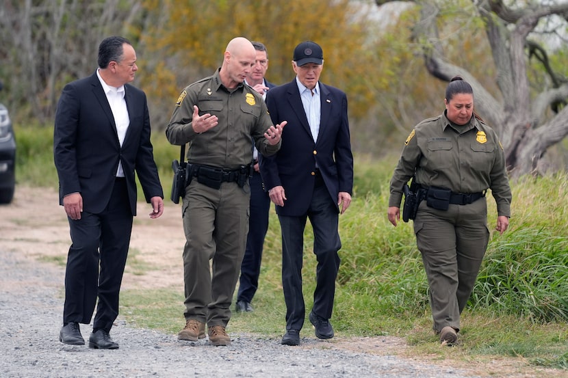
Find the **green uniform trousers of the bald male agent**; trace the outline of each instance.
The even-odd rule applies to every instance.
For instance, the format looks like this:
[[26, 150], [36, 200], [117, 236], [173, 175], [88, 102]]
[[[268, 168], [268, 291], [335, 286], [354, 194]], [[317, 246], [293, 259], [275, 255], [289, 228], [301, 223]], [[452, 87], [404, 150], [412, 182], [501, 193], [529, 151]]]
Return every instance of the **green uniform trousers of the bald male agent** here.
[[[185, 320], [227, 327], [248, 233], [248, 183], [211, 189], [196, 178], [183, 198]], [[212, 260], [212, 264], [210, 261]]]

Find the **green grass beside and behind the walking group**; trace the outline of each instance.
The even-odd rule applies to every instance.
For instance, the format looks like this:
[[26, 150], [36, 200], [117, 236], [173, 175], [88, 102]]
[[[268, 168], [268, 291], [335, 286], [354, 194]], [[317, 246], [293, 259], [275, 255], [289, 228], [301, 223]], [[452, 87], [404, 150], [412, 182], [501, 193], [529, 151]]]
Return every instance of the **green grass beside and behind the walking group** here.
[[[18, 183], [57, 186], [51, 132], [18, 129]], [[163, 133], [153, 134], [166, 200], [172, 159], [179, 148]], [[354, 199], [341, 215], [341, 267], [333, 325], [337, 337], [400, 336], [412, 353], [435, 358], [483, 360], [522, 357], [535, 366], [568, 368], [568, 175], [525, 177], [512, 183], [513, 217], [503, 235], [493, 232], [474, 293], [462, 317], [461, 343], [440, 348], [432, 331], [428, 285], [412, 224], [387, 221], [388, 185], [397, 157], [372, 161], [355, 157]], [[141, 192], [140, 192], [141, 193]], [[495, 202], [488, 198], [489, 228]], [[181, 230], [179, 230], [181, 232]], [[312, 235], [305, 232], [304, 295], [311, 308], [315, 282]], [[265, 242], [260, 288], [252, 314], [233, 314], [229, 332], [279, 338], [285, 328], [281, 285], [280, 229], [274, 210]], [[180, 251], [181, 252], [181, 251]], [[55, 263], [60, 263], [55, 261]], [[144, 274], [134, 252], [129, 269]], [[140, 327], [177, 334], [183, 327], [183, 293], [177, 290], [123, 290], [121, 315]], [[306, 329], [311, 327], [305, 322]]]

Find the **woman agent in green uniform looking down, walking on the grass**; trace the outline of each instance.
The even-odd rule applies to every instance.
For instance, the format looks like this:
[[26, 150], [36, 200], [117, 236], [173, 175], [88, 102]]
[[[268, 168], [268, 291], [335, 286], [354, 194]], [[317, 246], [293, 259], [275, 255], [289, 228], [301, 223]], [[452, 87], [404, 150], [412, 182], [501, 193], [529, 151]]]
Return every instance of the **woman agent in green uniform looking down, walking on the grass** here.
[[396, 226], [402, 188], [415, 176], [414, 232], [430, 287], [433, 328], [441, 342], [452, 345], [489, 243], [485, 193], [491, 189], [496, 230], [503, 233], [511, 217], [511, 188], [497, 135], [474, 115], [471, 85], [454, 77], [445, 103], [441, 116], [420, 122], [406, 139], [391, 178], [388, 216]]

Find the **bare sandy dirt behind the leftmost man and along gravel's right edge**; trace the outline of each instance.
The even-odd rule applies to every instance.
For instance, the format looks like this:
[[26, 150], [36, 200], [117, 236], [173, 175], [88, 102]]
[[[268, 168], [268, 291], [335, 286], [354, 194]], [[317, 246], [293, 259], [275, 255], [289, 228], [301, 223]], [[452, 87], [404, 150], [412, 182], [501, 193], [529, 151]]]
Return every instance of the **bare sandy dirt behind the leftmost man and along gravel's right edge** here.
[[[140, 202], [135, 217], [131, 253], [153, 269], [140, 272], [127, 267], [122, 288], [175, 288], [183, 292], [181, 251], [185, 238], [181, 230], [181, 208], [166, 199], [164, 215], [150, 219], [150, 205]], [[11, 250], [23, 258], [38, 260], [52, 257], [64, 259], [69, 247], [68, 223], [62, 206], [57, 204], [54, 189], [17, 187], [14, 201], [0, 206], [0, 252]], [[500, 358], [466, 362], [434, 360], [438, 357], [417, 355], [404, 339], [378, 336], [335, 340], [329, 347], [378, 355], [395, 354], [411, 360], [452, 365], [482, 377], [568, 377], [568, 372], [538, 369], [519, 358]]]

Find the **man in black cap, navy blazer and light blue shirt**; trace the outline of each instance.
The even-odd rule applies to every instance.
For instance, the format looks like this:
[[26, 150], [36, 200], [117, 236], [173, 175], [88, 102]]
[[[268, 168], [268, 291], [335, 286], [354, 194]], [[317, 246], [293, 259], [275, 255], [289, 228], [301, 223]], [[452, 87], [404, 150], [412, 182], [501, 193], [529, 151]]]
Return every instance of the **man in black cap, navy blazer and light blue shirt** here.
[[298, 44], [292, 61], [296, 79], [273, 88], [266, 98], [272, 122], [288, 121], [280, 150], [260, 162], [282, 232], [282, 284], [287, 307], [284, 345], [300, 344], [304, 324], [302, 255], [307, 218], [318, 260], [309, 320], [318, 338], [332, 338], [334, 334], [329, 319], [340, 261], [339, 206], [342, 214], [351, 203], [353, 157], [347, 97], [341, 90], [320, 83], [323, 64], [323, 51], [317, 43]]

